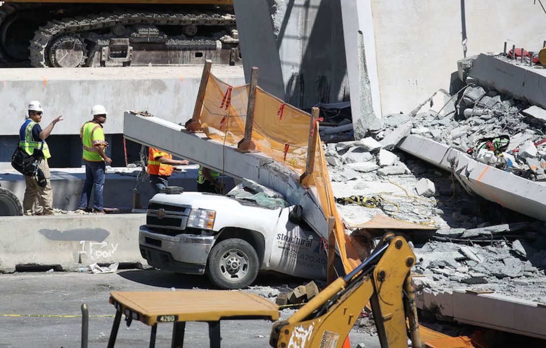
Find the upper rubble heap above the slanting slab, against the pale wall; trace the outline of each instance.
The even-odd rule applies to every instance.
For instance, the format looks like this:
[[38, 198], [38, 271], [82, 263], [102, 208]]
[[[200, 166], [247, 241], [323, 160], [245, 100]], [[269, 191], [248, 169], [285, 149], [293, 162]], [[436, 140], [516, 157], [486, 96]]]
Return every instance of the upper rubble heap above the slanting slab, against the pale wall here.
[[[459, 66], [464, 67], [462, 75], [467, 75], [475, 59], [459, 62]], [[546, 148], [542, 144], [535, 145], [546, 138], [546, 110], [480, 86], [471, 77], [466, 77], [465, 82], [458, 94], [452, 96], [439, 90], [409, 114], [388, 115], [382, 120], [382, 127], [376, 130], [376, 139], [384, 141], [385, 137], [394, 137], [394, 141], [399, 141], [414, 134], [463, 152], [474, 148], [468, 156], [479, 162], [526, 179], [546, 180]], [[481, 139], [505, 135], [509, 137], [509, 144], [498, 150], [502, 153], [500, 157], [488, 148], [476, 149]], [[392, 142], [390, 140], [390, 144]]]

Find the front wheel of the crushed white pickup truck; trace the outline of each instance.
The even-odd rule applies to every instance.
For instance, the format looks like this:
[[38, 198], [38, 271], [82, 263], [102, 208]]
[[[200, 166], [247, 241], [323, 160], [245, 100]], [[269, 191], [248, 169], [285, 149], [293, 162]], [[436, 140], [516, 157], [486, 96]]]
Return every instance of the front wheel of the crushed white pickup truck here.
[[226, 239], [212, 247], [206, 271], [211, 282], [219, 288], [245, 288], [258, 276], [258, 254], [242, 239]]

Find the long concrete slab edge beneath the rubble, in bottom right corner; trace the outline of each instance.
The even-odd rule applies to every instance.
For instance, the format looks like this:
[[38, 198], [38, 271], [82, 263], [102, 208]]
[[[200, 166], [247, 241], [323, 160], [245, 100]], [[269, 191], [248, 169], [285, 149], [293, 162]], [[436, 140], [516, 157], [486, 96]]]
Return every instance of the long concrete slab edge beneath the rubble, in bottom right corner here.
[[[413, 278], [419, 286], [420, 279]], [[473, 294], [464, 290], [416, 294], [417, 308], [470, 325], [546, 339], [546, 307], [500, 294]]]

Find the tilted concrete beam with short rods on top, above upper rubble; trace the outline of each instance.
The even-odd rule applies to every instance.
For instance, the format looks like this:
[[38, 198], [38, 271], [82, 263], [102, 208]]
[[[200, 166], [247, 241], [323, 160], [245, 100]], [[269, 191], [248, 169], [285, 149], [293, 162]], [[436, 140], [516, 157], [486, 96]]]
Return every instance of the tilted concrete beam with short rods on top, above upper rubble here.
[[468, 75], [476, 78], [483, 86], [546, 108], [544, 69], [535, 69], [529, 65], [515, 63], [513, 60], [480, 54]]

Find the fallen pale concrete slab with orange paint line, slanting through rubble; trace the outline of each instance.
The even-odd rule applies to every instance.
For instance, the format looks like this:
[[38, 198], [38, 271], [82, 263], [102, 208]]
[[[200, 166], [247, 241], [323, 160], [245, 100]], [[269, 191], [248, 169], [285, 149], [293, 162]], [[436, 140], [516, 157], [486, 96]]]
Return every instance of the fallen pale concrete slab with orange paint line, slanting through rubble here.
[[468, 157], [465, 152], [418, 135], [398, 148], [444, 170], [452, 171], [467, 191], [508, 209], [546, 221], [546, 184], [513, 175]]

